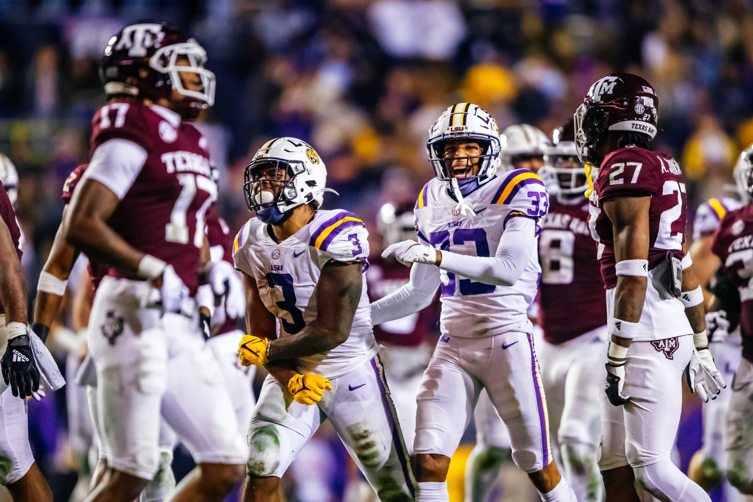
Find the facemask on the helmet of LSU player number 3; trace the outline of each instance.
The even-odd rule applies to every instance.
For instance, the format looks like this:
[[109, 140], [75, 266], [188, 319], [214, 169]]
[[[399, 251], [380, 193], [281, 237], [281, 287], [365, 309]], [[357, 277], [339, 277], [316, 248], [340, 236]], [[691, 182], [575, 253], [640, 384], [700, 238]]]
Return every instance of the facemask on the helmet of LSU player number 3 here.
[[302, 202], [296, 198], [297, 175], [306, 171], [302, 162], [263, 157], [252, 160], [243, 173], [243, 194], [248, 209], [268, 224], [277, 224]]

